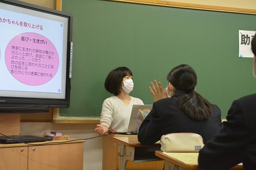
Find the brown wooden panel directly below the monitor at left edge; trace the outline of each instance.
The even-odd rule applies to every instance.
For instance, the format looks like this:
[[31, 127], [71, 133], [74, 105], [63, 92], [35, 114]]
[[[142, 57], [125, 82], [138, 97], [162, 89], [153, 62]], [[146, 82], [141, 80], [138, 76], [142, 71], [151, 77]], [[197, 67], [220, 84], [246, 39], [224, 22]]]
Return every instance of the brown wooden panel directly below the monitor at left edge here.
[[20, 114], [0, 113], [0, 133], [5, 135], [19, 135]]

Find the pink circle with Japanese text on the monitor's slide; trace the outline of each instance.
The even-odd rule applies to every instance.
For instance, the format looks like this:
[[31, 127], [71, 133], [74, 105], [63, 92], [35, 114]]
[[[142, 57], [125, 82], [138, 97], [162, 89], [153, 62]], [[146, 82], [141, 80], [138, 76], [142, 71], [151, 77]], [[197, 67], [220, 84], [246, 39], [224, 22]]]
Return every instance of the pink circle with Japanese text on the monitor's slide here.
[[38, 33], [15, 36], [5, 50], [5, 64], [18, 81], [38, 86], [49, 82], [59, 68], [59, 55], [52, 42]]

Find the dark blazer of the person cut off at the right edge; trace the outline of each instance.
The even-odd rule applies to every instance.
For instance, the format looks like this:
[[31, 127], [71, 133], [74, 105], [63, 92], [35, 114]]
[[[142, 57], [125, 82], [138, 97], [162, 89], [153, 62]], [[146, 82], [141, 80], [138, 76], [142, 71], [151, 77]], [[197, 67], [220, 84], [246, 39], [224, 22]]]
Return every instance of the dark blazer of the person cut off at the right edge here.
[[256, 169], [256, 94], [233, 101], [227, 122], [199, 151], [202, 169], [228, 169], [239, 163]]

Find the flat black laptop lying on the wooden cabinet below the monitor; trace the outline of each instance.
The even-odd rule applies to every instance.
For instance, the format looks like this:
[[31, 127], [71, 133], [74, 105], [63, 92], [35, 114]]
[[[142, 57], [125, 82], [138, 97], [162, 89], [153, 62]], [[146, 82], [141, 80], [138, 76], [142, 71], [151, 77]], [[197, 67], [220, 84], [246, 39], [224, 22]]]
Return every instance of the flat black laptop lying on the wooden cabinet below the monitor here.
[[[47, 140], [49, 140], [49, 139], [46, 137], [37, 137], [37, 136], [33, 136], [33, 135], [17, 135], [17, 136], [7, 136], [7, 137], [0, 136], [0, 143], [5, 143], [5, 144], [21, 143], [21, 142], [25, 142], [25, 143], [44, 142]], [[19, 141], [21, 141], [21, 142], [19, 142]]]

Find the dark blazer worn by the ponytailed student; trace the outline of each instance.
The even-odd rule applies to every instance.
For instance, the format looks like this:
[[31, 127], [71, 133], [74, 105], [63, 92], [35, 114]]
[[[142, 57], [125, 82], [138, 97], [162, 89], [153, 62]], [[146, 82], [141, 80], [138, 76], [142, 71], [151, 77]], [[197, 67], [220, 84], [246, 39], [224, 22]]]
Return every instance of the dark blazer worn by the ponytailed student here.
[[153, 145], [164, 134], [192, 132], [200, 134], [204, 142], [209, 141], [221, 127], [221, 112], [219, 107], [213, 105], [210, 121], [197, 122], [191, 120], [178, 108], [178, 97], [187, 94], [178, 90], [172, 98], [158, 100], [145, 120], [141, 123], [138, 140], [143, 145]]

